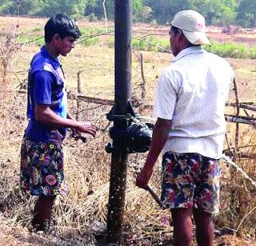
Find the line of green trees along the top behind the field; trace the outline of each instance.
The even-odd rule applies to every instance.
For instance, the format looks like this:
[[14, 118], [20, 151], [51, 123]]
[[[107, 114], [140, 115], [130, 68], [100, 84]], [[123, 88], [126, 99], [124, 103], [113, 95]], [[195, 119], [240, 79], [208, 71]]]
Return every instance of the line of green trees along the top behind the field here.
[[[122, 0], [118, 0], [122, 1]], [[49, 17], [56, 13], [84, 16], [90, 21], [104, 18], [103, 0], [0, 0], [0, 14]], [[255, 0], [133, 0], [134, 22], [164, 24], [179, 10], [197, 10], [207, 25], [256, 26]], [[106, 0], [107, 18], [114, 18], [114, 0]]]

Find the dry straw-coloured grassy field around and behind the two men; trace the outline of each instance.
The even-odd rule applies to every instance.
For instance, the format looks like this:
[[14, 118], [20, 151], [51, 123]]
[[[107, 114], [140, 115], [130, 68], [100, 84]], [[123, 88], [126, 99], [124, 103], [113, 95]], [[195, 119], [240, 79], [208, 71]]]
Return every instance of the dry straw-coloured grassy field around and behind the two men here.
[[[5, 48], [6, 34], [14, 32], [18, 35], [18, 42], [28, 42], [42, 36], [42, 26], [46, 19], [38, 18], [0, 18], [2, 23], [1, 61], [3, 54], [10, 57], [8, 81], [0, 89], [0, 244], [1, 245], [88, 245], [97, 244], [106, 228], [106, 205], [110, 176], [110, 155], [105, 153], [104, 145], [110, 141], [107, 133], [106, 113], [110, 106], [98, 106], [93, 103], [80, 102], [80, 119], [89, 118], [98, 125], [100, 131], [95, 139], [86, 144], [67, 137], [64, 143], [66, 153], [66, 179], [69, 183], [68, 196], [59, 197], [54, 208], [54, 227], [49, 235], [43, 236], [31, 233], [30, 220], [34, 199], [24, 196], [18, 188], [19, 148], [23, 131], [26, 127], [26, 96], [14, 92], [26, 84], [27, 71], [30, 60], [38, 51], [40, 42], [30, 42], [18, 46], [15, 42]], [[84, 36], [104, 32], [102, 22], [78, 22]], [[109, 23], [109, 30], [113, 30], [113, 23]], [[134, 37], [146, 34], [156, 34], [158, 39], [168, 42], [168, 28], [166, 26], [150, 26], [146, 24], [134, 25]], [[221, 30], [212, 27], [208, 30], [211, 38], [218, 44], [230, 42], [251, 49], [254, 42], [253, 34], [221, 34]], [[165, 35], [165, 36], [164, 36]], [[114, 49], [111, 46], [113, 36], [100, 36], [87, 44], [81, 42], [68, 55], [61, 58], [66, 72], [68, 90], [76, 91], [78, 73], [82, 81], [82, 93], [90, 97], [114, 99]], [[156, 38], [155, 38], [156, 39]], [[152, 39], [154, 40], [154, 39]], [[256, 39], [255, 39], [256, 40]], [[141, 56], [146, 81], [145, 103], [151, 105], [160, 71], [170, 64], [172, 55], [142, 49], [138, 45], [133, 50], [132, 81], [133, 97], [141, 98], [140, 84], [142, 83]], [[155, 47], [155, 46], [154, 46]], [[224, 47], [224, 46], [223, 46]], [[8, 51], [9, 49], [9, 51]], [[223, 49], [223, 48], [222, 48]], [[1, 56], [2, 55], [2, 56]], [[253, 101], [256, 98], [256, 60], [226, 58], [234, 68], [238, 83], [239, 101]], [[1, 63], [2, 65], [2, 63]], [[4, 70], [1, 66], [0, 80]], [[234, 90], [230, 91], [230, 102], [234, 102]], [[75, 100], [69, 101], [70, 111], [78, 110]], [[235, 113], [232, 108], [227, 109]], [[244, 114], [244, 113], [243, 113]], [[151, 110], [142, 111], [145, 117], [152, 117]], [[240, 146], [242, 151], [255, 153], [255, 129], [247, 125], [240, 126]], [[228, 124], [228, 139], [230, 147], [234, 147], [234, 124]], [[246, 147], [245, 147], [246, 146]], [[225, 148], [227, 148], [225, 146]], [[145, 154], [132, 154], [129, 157], [126, 212], [123, 229], [125, 245], [158, 245], [170, 244], [172, 235], [170, 213], [160, 211], [154, 200], [147, 192], [139, 190], [134, 185], [138, 169], [145, 161]], [[238, 164], [254, 180], [256, 165], [254, 159], [239, 159]], [[238, 171], [231, 169], [225, 163], [222, 166], [222, 211], [216, 217], [216, 225], [223, 236], [216, 238], [218, 245], [254, 245], [256, 232], [255, 218], [255, 188], [246, 181]], [[156, 166], [151, 186], [159, 193], [160, 161]], [[226, 230], [226, 231], [225, 231]], [[225, 235], [235, 232], [234, 235]]]

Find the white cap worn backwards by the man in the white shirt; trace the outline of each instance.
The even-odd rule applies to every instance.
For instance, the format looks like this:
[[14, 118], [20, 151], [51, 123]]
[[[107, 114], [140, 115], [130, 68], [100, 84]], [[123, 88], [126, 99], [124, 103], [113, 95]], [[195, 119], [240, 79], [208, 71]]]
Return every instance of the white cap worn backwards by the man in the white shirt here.
[[171, 26], [181, 29], [186, 39], [194, 45], [210, 45], [206, 37], [206, 21], [194, 10], [182, 10], [175, 14]]

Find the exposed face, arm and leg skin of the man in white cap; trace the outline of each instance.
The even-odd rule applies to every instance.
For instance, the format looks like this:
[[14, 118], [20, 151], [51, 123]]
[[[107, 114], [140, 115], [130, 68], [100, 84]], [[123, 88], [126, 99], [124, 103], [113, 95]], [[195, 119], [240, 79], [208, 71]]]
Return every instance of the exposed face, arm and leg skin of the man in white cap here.
[[[170, 29], [170, 46], [174, 56], [177, 56], [182, 50], [191, 46], [181, 30], [174, 33]], [[168, 134], [171, 129], [171, 121], [158, 118], [153, 131], [153, 137], [150, 145], [150, 152], [146, 157], [146, 163], [142, 171], [138, 173], [136, 185], [139, 188], [147, 188], [150, 177], [154, 171], [154, 165], [158, 160], [166, 144]], [[172, 220], [174, 222], [174, 245], [190, 246], [193, 240], [192, 219], [196, 225], [196, 239], [198, 246], [214, 245], [214, 224], [210, 213], [204, 212], [202, 208], [174, 208], [171, 210]]]

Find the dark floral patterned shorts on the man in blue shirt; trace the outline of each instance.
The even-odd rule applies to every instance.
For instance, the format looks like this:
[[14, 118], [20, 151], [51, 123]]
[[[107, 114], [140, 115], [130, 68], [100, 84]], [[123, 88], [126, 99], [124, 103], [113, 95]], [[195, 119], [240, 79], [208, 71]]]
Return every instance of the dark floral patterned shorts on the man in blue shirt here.
[[23, 138], [20, 178], [22, 191], [33, 196], [66, 194], [62, 146]]

